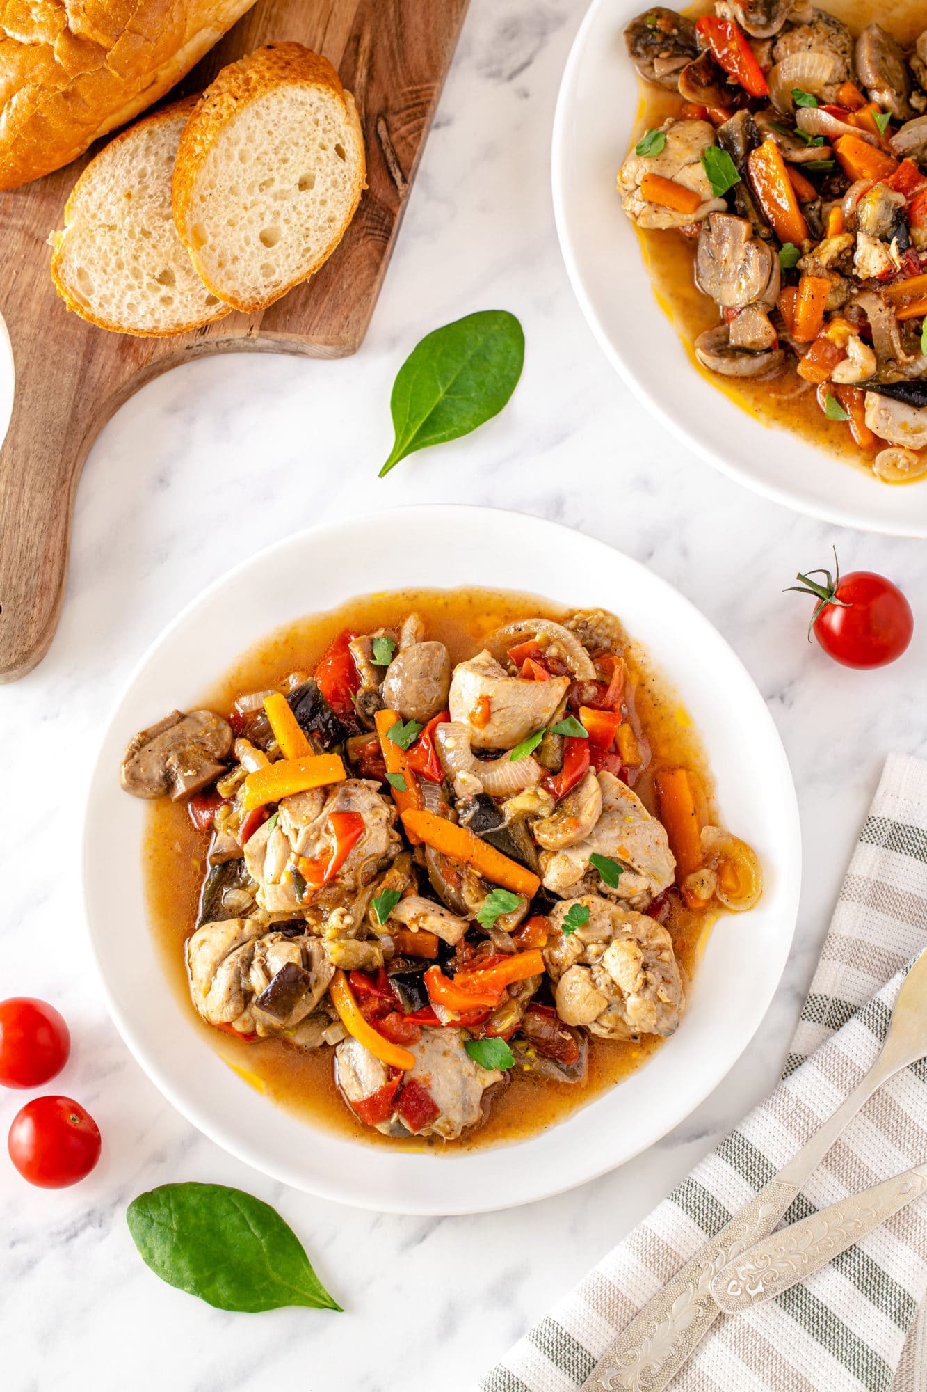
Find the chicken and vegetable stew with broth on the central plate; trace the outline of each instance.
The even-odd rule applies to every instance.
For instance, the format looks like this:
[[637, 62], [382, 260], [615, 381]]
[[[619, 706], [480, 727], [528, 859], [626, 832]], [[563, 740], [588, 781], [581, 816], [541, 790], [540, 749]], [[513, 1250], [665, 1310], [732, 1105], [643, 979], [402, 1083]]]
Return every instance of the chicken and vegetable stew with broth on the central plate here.
[[356, 600], [138, 734], [154, 931], [216, 1048], [390, 1144], [525, 1136], [672, 1034], [761, 892], [618, 619], [489, 590]]

